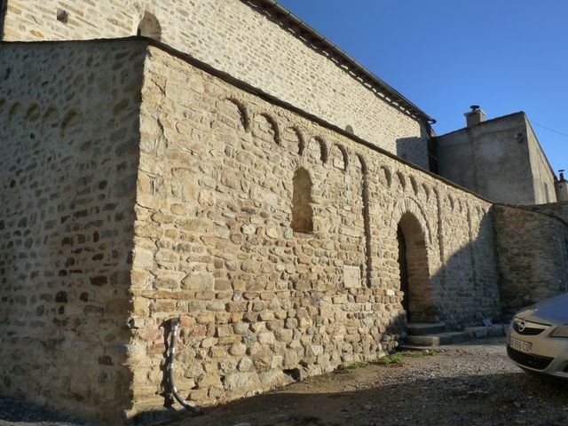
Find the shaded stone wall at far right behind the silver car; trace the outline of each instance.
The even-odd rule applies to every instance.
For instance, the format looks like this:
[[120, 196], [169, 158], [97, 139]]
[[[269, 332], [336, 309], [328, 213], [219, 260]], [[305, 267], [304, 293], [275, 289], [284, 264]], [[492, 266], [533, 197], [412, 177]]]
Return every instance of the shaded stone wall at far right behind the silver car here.
[[494, 207], [505, 314], [568, 291], [568, 225], [509, 206]]

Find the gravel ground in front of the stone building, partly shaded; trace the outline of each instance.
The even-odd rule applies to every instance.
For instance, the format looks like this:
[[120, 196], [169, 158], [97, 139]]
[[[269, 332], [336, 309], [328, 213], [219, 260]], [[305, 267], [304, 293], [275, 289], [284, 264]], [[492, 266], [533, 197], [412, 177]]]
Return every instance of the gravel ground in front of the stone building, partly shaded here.
[[[7, 414], [6, 414], [7, 413]], [[526, 375], [507, 358], [504, 339], [414, 352], [402, 364], [370, 365], [312, 377], [199, 417], [138, 424], [168, 426], [394, 426], [568, 424], [568, 384]], [[83, 426], [0, 398], [0, 425]]]

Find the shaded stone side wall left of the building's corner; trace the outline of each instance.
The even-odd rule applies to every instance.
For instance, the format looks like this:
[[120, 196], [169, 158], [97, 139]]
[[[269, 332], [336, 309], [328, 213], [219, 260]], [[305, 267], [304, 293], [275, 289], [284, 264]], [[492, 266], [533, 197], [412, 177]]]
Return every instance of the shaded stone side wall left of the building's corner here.
[[130, 404], [140, 43], [0, 46], [0, 394]]

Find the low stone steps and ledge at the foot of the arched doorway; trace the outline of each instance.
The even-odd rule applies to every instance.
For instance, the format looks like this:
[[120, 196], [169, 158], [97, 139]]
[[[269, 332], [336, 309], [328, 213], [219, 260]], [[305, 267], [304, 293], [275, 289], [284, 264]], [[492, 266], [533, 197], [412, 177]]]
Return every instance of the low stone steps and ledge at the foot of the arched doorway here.
[[493, 324], [491, 327], [467, 327], [463, 331], [432, 333], [430, 335], [407, 335], [400, 349], [433, 348], [441, 344], [468, 342], [469, 340], [496, 335], [505, 335], [507, 324]]

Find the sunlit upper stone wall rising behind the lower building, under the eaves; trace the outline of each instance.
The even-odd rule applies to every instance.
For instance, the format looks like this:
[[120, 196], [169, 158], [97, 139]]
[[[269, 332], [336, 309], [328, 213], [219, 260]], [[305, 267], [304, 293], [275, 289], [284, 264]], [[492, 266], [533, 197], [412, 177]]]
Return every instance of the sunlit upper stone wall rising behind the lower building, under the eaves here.
[[421, 121], [240, 0], [7, 0], [4, 40], [134, 36], [145, 13], [149, 36], [428, 169]]

